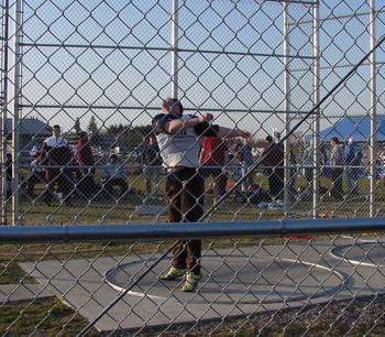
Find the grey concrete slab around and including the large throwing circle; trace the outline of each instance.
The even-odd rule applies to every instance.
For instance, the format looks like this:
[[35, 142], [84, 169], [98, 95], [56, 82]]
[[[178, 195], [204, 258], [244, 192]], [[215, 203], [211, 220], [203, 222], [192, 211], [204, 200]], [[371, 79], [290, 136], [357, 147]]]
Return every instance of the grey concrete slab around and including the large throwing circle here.
[[[341, 246], [349, 240], [341, 242]], [[169, 323], [232, 317], [382, 292], [382, 268], [352, 265], [333, 258], [328, 242], [293, 242], [216, 249], [202, 257], [205, 278], [196, 293], [178, 282], [161, 282], [162, 261], [95, 326], [138, 329]], [[156, 257], [42, 261], [21, 267], [42, 285], [92, 320], [120, 291], [138, 280]]]

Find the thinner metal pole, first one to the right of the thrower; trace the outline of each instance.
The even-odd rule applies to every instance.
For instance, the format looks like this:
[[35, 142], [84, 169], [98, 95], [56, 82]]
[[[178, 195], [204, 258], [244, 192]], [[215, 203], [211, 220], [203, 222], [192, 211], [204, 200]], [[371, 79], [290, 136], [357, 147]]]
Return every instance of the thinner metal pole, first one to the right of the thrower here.
[[[289, 54], [290, 54], [290, 41], [289, 41], [289, 3], [284, 3], [284, 93], [285, 93], [285, 134], [290, 132], [290, 70], [289, 70]], [[285, 215], [290, 209], [290, 142], [287, 137], [284, 142], [285, 148], [285, 175], [284, 175], [284, 213]]]

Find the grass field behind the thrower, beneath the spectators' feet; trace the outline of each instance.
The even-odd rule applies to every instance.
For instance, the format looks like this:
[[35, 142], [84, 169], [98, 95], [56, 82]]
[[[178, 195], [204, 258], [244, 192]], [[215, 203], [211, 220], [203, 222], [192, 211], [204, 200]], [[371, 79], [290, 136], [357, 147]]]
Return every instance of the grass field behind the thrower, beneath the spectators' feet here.
[[[67, 207], [59, 202], [54, 202], [52, 206], [46, 206], [43, 198], [43, 185], [36, 185], [37, 198], [31, 200], [26, 196], [22, 196], [20, 200], [20, 221], [22, 225], [48, 225], [48, 224], [155, 224], [165, 222], [165, 216], [140, 215], [138, 208], [143, 204], [165, 205], [163, 195], [156, 199], [147, 199], [143, 194], [144, 177], [140, 175], [131, 175], [128, 180], [130, 188], [134, 193], [130, 193], [123, 198], [119, 196], [106, 197], [101, 193], [97, 193], [90, 200], [74, 197], [73, 206]], [[267, 180], [264, 176], [254, 178], [256, 184], [268, 189]], [[211, 183], [207, 181], [207, 186]], [[331, 182], [327, 178], [321, 178], [320, 185], [330, 188]], [[304, 177], [297, 178], [296, 189], [304, 191], [311, 188], [307, 186]], [[321, 196], [319, 204], [320, 213], [331, 213], [336, 217], [367, 216], [369, 215], [369, 181], [361, 181], [360, 195], [348, 195], [346, 199], [334, 202], [327, 195]], [[160, 191], [164, 189], [164, 183], [161, 184]], [[344, 186], [346, 191], [346, 186]], [[311, 197], [308, 195], [298, 194], [292, 200], [290, 209], [286, 217], [307, 218], [312, 216]], [[378, 215], [385, 214], [385, 188], [382, 181], [377, 181], [375, 189], [375, 210]], [[206, 210], [212, 205], [212, 195], [207, 194], [205, 197]], [[10, 209], [10, 205], [9, 205]], [[353, 214], [352, 214], [353, 211]], [[11, 217], [10, 211], [9, 218]], [[229, 198], [216, 210], [209, 220], [216, 221], [233, 221], [233, 220], [257, 220], [283, 218], [284, 215], [279, 210], [266, 210], [257, 208], [252, 203], [240, 202], [234, 195]]]

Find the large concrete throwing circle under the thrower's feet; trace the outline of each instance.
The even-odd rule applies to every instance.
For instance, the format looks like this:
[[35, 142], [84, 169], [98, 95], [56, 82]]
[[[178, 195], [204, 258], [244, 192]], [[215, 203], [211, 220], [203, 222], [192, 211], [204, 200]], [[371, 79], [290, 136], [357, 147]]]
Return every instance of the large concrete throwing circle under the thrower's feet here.
[[[154, 260], [153, 260], [154, 261]], [[146, 261], [152, 265], [153, 261]], [[162, 261], [129, 294], [166, 300], [191, 301], [191, 293], [178, 289], [184, 280], [161, 281], [157, 275], [169, 267]], [[118, 265], [106, 273], [107, 282], [122, 291], [134, 282], [146, 267], [144, 261]], [[204, 278], [199, 282], [194, 303], [242, 304], [282, 303], [328, 295], [341, 290], [344, 276], [323, 265], [289, 259], [205, 256]]]

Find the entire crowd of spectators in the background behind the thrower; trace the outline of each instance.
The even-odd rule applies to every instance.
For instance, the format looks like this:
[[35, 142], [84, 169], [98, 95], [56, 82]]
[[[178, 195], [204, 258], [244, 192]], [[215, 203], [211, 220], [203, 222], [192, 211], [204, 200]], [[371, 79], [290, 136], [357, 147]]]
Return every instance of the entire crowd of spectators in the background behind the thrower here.
[[[141, 146], [141, 165], [143, 176], [145, 178], [145, 194], [148, 196], [160, 196], [161, 176], [165, 174], [163, 166], [167, 165], [167, 157], [173, 154], [162, 154], [160, 145], [163, 139], [155, 132], [148, 134]], [[230, 129], [229, 129], [230, 130]], [[187, 132], [187, 131], [185, 131]], [[231, 132], [229, 132], [232, 134]], [[184, 156], [187, 161], [191, 161], [189, 155], [198, 151], [197, 161], [199, 163], [199, 175], [206, 180], [209, 178], [211, 184], [207, 191], [213, 194], [213, 204], [220, 199], [234, 182], [242, 180], [242, 184], [233, 191], [235, 198], [245, 200], [251, 195], [258, 193], [261, 202], [280, 202], [284, 198], [284, 157], [285, 151], [280, 140], [280, 134], [275, 132], [267, 135], [265, 146], [258, 154], [260, 165], [258, 172], [263, 172], [266, 177], [268, 187], [263, 191], [262, 186], [254, 183], [255, 171], [249, 172], [255, 163], [256, 156], [253, 155], [250, 141], [241, 142], [237, 139], [229, 142], [217, 134], [206, 134], [205, 137], [193, 134], [195, 148], [186, 150]], [[234, 137], [233, 137], [234, 138]], [[179, 150], [182, 143], [176, 149]], [[195, 152], [193, 152], [193, 150]], [[165, 151], [165, 150], [164, 150]], [[167, 150], [173, 151], [173, 150]], [[176, 150], [175, 150], [176, 151]], [[166, 152], [167, 153], [167, 152]], [[320, 174], [331, 180], [331, 188], [328, 193], [332, 199], [339, 200], [346, 194], [358, 194], [360, 191], [359, 182], [364, 174], [362, 168], [363, 154], [362, 149], [351, 138], [346, 144], [342, 144], [338, 138], [330, 141], [329, 155], [327, 154], [326, 144], [322, 143], [320, 149]], [[112, 153], [108, 163], [98, 165], [99, 174], [96, 178], [96, 161], [88, 134], [81, 131], [78, 134], [76, 143], [76, 152], [73, 153], [69, 142], [62, 135], [59, 126], [53, 127], [53, 135], [44, 140], [40, 151], [31, 153], [33, 160], [30, 164], [31, 173], [23, 182], [25, 194], [35, 198], [35, 185], [45, 184], [43, 199], [51, 205], [54, 198], [63, 200], [67, 206], [72, 205], [74, 192], [85, 197], [94, 196], [96, 191], [103, 191], [108, 196], [125, 195], [130, 188], [128, 184], [128, 170], [119, 156]], [[296, 180], [302, 170], [307, 186], [311, 186], [314, 181], [314, 148], [310, 144], [302, 152], [302, 157], [298, 159], [297, 153], [292, 153], [290, 164], [296, 166], [290, 168], [290, 195], [297, 193]], [[182, 159], [180, 159], [182, 160]], [[195, 161], [196, 159], [194, 159]], [[193, 161], [193, 162], [194, 162]], [[8, 155], [7, 178], [11, 182], [11, 155]], [[243, 178], [244, 177], [244, 178]], [[343, 178], [345, 177], [344, 192]], [[9, 183], [11, 186], [11, 183]], [[327, 188], [321, 187], [322, 191]], [[118, 191], [117, 191], [118, 189]], [[310, 191], [310, 188], [308, 188]], [[207, 192], [206, 191], [206, 192]], [[11, 195], [11, 188], [8, 194]], [[304, 198], [306, 199], [306, 198]]]

